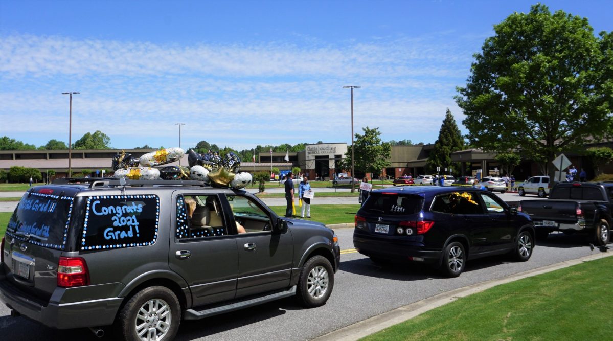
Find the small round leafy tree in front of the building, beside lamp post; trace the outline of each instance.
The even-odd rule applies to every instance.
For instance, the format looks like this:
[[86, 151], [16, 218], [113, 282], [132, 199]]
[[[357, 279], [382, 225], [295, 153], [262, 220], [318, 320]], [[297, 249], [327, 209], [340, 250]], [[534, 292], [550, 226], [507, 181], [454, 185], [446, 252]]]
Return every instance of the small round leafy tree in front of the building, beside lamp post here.
[[[390, 158], [392, 147], [388, 142], [381, 141], [379, 128], [370, 129], [367, 126], [362, 128], [362, 131], [364, 131], [364, 135], [357, 132], [355, 134], [354, 154], [356, 155], [356, 161], [354, 167], [356, 171], [380, 174], [381, 169], [390, 165], [387, 159]], [[343, 169], [351, 169], [351, 146], [345, 153], [345, 159], [341, 161], [340, 166]]]

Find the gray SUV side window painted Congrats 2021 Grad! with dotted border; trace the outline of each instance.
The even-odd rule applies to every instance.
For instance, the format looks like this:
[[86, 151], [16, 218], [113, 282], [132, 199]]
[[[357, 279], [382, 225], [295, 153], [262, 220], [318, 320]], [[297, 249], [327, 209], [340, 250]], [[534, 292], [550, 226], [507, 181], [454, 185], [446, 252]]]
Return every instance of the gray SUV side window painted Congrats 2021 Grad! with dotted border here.
[[152, 245], [158, 224], [158, 196], [88, 197], [81, 250]]

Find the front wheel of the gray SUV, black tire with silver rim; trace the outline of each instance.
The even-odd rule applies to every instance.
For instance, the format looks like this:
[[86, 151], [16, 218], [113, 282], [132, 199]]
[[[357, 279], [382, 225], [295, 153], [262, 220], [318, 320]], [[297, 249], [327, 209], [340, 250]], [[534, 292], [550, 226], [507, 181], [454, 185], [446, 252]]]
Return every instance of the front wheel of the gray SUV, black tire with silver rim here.
[[334, 271], [324, 256], [313, 256], [302, 266], [298, 279], [298, 301], [307, 307], [326, 304], [334, 287]]

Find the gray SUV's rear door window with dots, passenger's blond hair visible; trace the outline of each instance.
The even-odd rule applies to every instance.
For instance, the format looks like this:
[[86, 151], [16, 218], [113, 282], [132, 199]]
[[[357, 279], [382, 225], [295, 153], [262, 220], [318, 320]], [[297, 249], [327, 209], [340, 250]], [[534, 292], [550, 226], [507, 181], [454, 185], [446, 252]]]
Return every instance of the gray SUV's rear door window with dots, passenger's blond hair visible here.
[[226, 236], [219, 198], [215, 195], [177, 197], [177, 238]]

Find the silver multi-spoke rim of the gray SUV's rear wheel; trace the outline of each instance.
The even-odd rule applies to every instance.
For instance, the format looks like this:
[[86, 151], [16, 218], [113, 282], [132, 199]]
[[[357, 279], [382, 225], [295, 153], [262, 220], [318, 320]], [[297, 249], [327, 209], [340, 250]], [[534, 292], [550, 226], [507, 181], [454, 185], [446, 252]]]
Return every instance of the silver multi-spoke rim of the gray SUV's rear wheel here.
[[168, 334], [170, 323], [170, 306], [162, 299], [151, 299], [140, 307], [134, 328], [139, 340], [161, 340]]

